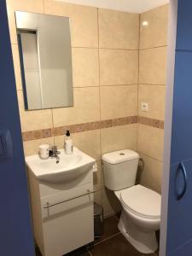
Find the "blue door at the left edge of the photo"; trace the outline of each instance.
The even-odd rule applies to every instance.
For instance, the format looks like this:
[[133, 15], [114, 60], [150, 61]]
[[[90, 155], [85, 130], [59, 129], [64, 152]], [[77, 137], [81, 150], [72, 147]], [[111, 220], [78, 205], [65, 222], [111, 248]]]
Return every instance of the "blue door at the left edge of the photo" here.
[[34, 256], [6, 3], [0, 1], [0, 255]]

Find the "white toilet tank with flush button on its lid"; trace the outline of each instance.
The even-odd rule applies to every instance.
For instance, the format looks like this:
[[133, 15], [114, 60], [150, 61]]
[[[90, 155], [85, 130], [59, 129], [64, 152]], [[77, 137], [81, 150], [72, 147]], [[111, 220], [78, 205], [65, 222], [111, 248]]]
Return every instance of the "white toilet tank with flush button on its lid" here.
[[110, 190], [120, 190], [136, 183], [139, 155], [130, 149], [102, 155], [104, 183]]

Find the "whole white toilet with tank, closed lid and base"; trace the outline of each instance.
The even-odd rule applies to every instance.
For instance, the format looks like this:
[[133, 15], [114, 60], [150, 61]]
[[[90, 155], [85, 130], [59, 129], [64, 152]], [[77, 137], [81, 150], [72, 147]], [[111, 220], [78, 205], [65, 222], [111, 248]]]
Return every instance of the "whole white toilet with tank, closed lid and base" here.
[[155, 231], [160, 229], [161, 196], [135, 185], [139, 155], [129, 149], [102, 155], [105, 186], [113, 190], [123, 210], [118, 228], [140, 253], [158, 248]]

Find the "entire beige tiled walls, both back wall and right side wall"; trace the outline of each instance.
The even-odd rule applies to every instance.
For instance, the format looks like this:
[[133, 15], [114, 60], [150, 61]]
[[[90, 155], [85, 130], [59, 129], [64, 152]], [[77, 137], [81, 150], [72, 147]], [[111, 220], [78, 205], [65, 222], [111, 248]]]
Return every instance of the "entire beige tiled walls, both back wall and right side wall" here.
[[[103, 204], [105, 215], [116, 211], [119, 203], [103, 186], [103, 153], [138, 149], [146, 162], [142, 183], [159, 190], [166, 84], [166, 47], [161, 46], [166, 45], [167, 8], [141, 15], [141, 20], [148, 18], [151, 22], [145, 29], [141, 24], [139, 28], [136, 14], [50, 0], [7, 0], [7, 3], [25, 154], [37, 153], [42, 143], [55, 143], [62, 148], [62, 134], [66, 129], [73, 131], [74, 145], [97, 160], [95, 200]], [[15, 10], [70, 17], [73, 108], [25, 111]], [[160, 16], [159, 22], [155, 15]], [[140, 111], [142, 101], [149, 102], [146, 114]], [[137, 118], [138, 114], [143, 118]]]

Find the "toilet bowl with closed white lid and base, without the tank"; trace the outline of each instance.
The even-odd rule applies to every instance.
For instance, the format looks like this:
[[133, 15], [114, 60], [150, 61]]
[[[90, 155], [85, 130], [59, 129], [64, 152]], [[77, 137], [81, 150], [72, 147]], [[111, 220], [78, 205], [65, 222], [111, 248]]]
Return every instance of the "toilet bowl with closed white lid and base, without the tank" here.
[[114, 191], [123, 210], [118, 228], [140, 253], [158, 248], [155, 231], [160, 229], [160, 195], [142, 185]]

